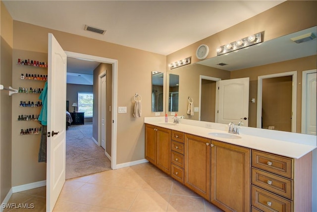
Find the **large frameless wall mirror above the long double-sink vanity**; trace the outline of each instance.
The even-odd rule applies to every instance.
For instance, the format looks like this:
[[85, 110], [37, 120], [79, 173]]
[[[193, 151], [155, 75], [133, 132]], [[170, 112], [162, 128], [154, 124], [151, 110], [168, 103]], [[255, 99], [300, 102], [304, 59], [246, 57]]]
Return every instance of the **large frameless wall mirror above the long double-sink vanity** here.
[[[308, 33], [317, 35], [317, 27], [167, 71], [167, 78], [170, 73], [179, 75], [178, 114], [217, 122], [216, 81], [249, 77], [249, 127], [316, 135], [317, 39], [292, 40]], [[186, 113], [188, 96], [199, 109], [193, 116]], [[277, 118], [282, 115], [286, 118]]]

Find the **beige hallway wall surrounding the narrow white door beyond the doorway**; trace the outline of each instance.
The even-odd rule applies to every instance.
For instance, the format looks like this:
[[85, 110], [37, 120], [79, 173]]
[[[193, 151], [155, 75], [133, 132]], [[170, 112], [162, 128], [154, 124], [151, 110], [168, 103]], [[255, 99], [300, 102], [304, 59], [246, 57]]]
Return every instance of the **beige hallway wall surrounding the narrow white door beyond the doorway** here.
[[93, 119], [93, 138], [98, 141], [98, 122], [99, 111], [98, 104], [99, 99], [99, 75], [106, 71], [106, 152], [111, 156], [111, 129], [112, 129], [112, 117], [109, 107], [112, 105], [112, 65], [100, 64], [94, 70], [94, 119]]

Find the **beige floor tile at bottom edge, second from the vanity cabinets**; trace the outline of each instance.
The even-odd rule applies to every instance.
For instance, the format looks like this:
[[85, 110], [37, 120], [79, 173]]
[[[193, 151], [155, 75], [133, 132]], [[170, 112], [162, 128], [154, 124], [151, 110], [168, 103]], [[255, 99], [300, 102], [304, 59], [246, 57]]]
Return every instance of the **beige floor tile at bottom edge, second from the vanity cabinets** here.
[[170, 194], [140, 191], [129, 211], [166, 212]]

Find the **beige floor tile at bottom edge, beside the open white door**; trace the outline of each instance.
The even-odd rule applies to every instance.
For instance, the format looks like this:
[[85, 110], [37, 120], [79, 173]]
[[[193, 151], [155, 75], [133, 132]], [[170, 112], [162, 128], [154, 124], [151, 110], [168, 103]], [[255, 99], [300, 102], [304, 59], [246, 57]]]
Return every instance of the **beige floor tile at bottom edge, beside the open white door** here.
[[92, 206], [57, 200], [53, 212], [89, 212]]

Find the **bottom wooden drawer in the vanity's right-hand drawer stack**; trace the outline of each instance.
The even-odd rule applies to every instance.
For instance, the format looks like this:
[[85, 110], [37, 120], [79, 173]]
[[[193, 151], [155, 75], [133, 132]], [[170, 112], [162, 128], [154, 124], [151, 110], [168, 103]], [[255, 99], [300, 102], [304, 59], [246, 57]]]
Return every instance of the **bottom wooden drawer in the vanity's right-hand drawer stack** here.
[[267, 192], [256, 186], [252, 186], [252, 206], [264, 212], [291, 212], [291, 201]]

